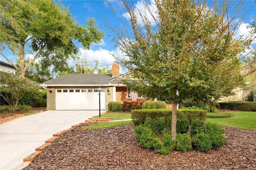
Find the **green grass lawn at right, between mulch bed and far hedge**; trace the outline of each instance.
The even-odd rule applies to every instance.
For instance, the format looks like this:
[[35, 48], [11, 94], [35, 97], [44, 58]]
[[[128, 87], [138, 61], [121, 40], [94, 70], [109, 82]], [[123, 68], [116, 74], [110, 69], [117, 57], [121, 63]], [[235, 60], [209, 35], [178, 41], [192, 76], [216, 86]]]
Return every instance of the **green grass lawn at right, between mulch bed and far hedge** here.
[[[222, 112], [219, 112], [222, 113]], [[256, 112], [232, 111], [234, 117], [230, 118], [207, 118], [206, 121], [219, 123], [222, 126], [256, 130]]]

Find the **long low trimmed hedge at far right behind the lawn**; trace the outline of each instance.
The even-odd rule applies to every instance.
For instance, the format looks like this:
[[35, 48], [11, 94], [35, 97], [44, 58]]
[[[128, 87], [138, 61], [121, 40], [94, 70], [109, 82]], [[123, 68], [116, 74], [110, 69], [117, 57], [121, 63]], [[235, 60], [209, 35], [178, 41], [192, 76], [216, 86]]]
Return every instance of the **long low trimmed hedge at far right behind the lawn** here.
[[219, 109], [236, 111], [256, 111], [256, 102], [223, 102], [219, 103]]

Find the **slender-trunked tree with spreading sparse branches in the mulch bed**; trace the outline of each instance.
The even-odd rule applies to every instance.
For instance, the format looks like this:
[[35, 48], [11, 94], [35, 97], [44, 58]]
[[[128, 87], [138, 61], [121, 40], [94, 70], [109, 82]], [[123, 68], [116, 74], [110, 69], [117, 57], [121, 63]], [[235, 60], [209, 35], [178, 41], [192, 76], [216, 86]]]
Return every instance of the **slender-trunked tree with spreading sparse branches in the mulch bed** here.
[[226, 1], [207, 6], [206, 1], [155, 0], [152, 10], [146, 0], [142, 2], [144, 9], [137, 10], [122, 0], [130, 27], [121, 17], [123, 29], [110, 26], [113, 41], [124, 54], [116, 59], [135, 80], [120, 81], [145, 97], [173, 103], [175, 139], [177, 104], [189, 98], [219, 99], [242, 85], [240, 71], [246, 66], [238, 54], [255, 36], [234, 37], [244, 16], [238, 14], [239, 3], [230, 9]]

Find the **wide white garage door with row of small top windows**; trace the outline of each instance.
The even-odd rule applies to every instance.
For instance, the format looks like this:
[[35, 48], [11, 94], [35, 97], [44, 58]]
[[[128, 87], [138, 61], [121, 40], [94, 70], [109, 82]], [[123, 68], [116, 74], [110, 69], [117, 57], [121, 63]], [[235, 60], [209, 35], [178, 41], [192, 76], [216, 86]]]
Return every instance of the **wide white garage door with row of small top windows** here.
[[[56, 89], [56, 110], [99, 110], [98, 89]], [[105, 91], [100, 91], [100, 109], [105, 110]]]

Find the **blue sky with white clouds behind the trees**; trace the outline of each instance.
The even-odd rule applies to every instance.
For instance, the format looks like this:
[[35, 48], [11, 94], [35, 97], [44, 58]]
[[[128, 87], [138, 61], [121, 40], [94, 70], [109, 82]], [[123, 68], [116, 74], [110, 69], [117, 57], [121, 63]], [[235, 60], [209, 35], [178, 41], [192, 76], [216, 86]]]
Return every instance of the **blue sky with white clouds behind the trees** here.
[[[124, 11], [120, 7], [118, 0], [110, 0], [109, 2], [112, 4], [112, 7], [116, 10], [119, 16], [124, 15]], [[114, 33], [108, 28], [107, 22], [111, 26], [115, 25], [122, 27], [122, 25], [116, 14], [114, 14], [114, 12], [111, 10], [108, 3], [106, 3], [104, 0], [61, 0], [60, 3], [66, 7], [69, 6], [69, 12], [76, 19], [78, 24], [85, 25], [86, 19], [89, 17], [94, 17], [96, 19], [98, 28], [104, 31], [105, 36], [102, 39], [102, 43], [92, 44], [90, 50], [80, 49], [82, 53], [81, 57], [89, 60], [90, 64], [93, 64], [95, 59], [99, 59], [100, 65], [109, 65], [109, 68], [111, 69], [111, 64], [115, 61], [115, 59], [110, 55], [110, 53], [116, 53], [118, 55], [119, 51], [116, 47], [114, 47], [114, 43], [110, 41], [112, 37], [108, 35], [113, 36]], [[210, 3], [210, 1], [207, 3]], [[140, 8], [142, 2], [134, 1], [134, 4]], [[254, 3], [254, 0], [246, 0], [244, 6], [249, 6], [249, 4], [253, 5], [250, 6], [250, 10], [246, 14], [246, 18], [243, 20], [243, 23], [238, 30], [239, 34], [244, 34], [247, 32], [246, 25], [248, 25], [248, 22], [251, 20], [251, 16], [256, 16], [256, 4]], [[123, 20], [127, 21], [126, 18], [123, 18]], [[15, 61], [16, 57], [13, 57], [11, 53], [8, 56]], [[26, 57], [28, 57], [28, 55]], [[0, 56], [0, 59], [6, 62], [4, 57]], [[121, 73], [125, 72], [125, 70], [120, 71]]]

